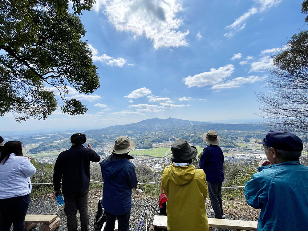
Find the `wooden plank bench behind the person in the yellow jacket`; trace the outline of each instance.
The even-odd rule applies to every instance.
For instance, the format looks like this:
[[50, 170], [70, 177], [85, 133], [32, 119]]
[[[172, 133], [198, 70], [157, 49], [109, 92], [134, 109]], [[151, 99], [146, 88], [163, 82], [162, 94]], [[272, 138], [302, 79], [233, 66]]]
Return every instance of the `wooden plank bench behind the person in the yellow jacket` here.
[[[239, 221], [208, 218], [209, 227], [227, 228], [234, 230], [257, 230], [257, 221]], [[154, 230], [167, 229], [167, 216], [154, 216], [153, 221]], [[211, 229], [210, 229], [211, 230]]]

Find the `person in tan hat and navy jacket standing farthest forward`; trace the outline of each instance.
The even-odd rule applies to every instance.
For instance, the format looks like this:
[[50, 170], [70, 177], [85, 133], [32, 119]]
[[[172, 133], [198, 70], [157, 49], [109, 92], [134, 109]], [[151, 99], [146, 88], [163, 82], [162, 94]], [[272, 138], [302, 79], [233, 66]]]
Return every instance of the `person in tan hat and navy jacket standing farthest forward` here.
[[208, 184], [209, 198], [213, 209], [210, 213], [215, 218], [225, 218], [222, 209], [221, 186], [224, 181], [224, 153], [218, 146], [220, 144], [217, 132], [208, 131], [203, 133], [202, 140], [209, 144], [203, 149], [199, 166], [203, 169]]

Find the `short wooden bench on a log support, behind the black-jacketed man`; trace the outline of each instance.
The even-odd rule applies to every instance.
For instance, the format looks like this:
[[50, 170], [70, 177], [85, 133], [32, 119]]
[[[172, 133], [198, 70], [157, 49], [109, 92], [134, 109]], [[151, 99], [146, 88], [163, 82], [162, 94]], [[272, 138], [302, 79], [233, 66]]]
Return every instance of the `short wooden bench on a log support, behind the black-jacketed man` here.
[[58, 215], [30, 215], [25, 218], [25, 230], [33, 229], [38, 223], [41, 225], [41, 231], [54, 231], [59, 227], [61, 221]]

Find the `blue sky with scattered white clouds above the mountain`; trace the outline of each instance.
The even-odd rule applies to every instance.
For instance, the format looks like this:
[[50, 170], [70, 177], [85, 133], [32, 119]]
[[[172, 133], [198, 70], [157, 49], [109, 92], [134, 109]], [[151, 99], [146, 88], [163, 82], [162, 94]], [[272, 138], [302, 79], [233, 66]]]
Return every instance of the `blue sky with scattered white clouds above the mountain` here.
[[[69, 88], [85, 115], [60, 110], [2, 131], [95, 129], [168, 117], [256, 120], [270, 55], [307, 29], [302, 0], [96, 0], [81, 20], [101, 87]], [[61, 106], [61, 105], [60, 105]]]

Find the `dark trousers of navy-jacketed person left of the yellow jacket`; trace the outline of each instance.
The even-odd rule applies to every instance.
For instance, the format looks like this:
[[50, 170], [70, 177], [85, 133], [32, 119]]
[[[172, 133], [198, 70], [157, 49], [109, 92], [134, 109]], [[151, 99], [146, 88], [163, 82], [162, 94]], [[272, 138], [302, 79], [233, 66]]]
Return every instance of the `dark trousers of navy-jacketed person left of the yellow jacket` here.
[[131, 211], [129, 210], [127, 213], [116, 216], [111, 213], [106, 213], [106, 225], [104, 231], [113, 231], [115, 230], [115, 218], [118, 218], [118, 231], [129, 231], [129, 217], [131, 216]]

